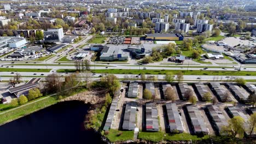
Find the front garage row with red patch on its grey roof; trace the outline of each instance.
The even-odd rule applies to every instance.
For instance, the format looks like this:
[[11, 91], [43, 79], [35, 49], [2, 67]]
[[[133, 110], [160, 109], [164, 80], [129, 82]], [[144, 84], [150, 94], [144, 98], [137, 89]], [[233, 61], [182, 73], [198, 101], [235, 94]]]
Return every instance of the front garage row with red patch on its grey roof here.
[[170, 132], [179, 131], [179, 133], [184, 132], [183, 123], [181, 116], [179, 115], [178, 107], [175, 103], [166, 104], [168, 125], [170, 127]]

